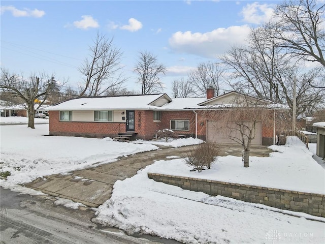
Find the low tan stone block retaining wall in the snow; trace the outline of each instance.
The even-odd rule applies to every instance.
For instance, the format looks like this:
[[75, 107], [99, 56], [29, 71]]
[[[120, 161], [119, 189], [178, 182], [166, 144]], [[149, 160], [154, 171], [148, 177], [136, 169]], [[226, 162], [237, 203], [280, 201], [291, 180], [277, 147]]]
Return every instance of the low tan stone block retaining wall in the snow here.
[[325, 217], [325, 195], [322, 194], [156, 173], [148, 173], [148, 177], [185, 190], [204, 192], [212, 196], [221, 195], [245, 202], [261, 203], [280, 209], [306, 212], [310, 215]]

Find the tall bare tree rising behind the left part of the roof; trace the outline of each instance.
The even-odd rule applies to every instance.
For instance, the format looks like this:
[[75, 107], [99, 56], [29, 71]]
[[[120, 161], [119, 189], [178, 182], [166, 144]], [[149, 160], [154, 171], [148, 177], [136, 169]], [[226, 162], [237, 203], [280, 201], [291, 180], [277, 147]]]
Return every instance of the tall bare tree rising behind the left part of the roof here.
[[79, 87], [80, 96], [100, 96], [112, 87], [120, 87], [125, 81], [121, 75], [122, 53], [114, 47], [113, 39], [108, 40], [97, 33], [89, 50], [89, 58], [85, 58], [79, 68], [79, 72], [85, 76], [84, 84]]

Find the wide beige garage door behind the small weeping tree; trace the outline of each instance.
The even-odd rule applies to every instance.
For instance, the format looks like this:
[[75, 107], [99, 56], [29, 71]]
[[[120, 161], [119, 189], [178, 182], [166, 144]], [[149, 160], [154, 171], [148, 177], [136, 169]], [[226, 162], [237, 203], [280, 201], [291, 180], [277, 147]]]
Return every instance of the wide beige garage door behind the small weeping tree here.
[[[207, 141], [216, 143], [230, 143], [236, 142], [230, 138], [241, 138], [241, 134], [237, 130], [228, 130], [220, 128], [220, 121], [213, 120], [207, 123]], [[235, 128], [235, 124], [228, 126], [228, 128]], [[252, 140], [252, 145], [262, 145], [262, 123], [256, 125], [255, 138]]]

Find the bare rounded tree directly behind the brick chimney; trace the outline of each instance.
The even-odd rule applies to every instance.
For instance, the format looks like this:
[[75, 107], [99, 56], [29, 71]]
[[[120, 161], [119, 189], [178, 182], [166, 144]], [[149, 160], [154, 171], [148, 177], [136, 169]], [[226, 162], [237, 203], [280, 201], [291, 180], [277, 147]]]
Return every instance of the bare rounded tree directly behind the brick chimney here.
[[193, 93], [197, 96], [205, 96], [207, 88], [214, 88], [215, 96], [220, 95], [220, 85], [223, 68], [218, 63], [201, 63], [188, 74], [188, 82], [191, 84]]

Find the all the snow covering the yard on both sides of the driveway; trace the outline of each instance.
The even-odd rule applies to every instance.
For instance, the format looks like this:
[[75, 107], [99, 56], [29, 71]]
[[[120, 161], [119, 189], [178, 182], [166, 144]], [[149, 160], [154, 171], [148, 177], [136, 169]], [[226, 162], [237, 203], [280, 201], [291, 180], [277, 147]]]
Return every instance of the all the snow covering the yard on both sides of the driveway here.
[[[110, 138], [46, 136], [48, 128], [48, 125], [37, 125], [34, 130], [26, 125], [0, 127], [0, 171], [12, 174], [7, 180], [0, 180], [1, 186], [14, 188], [15, 184], [37, 177], [157, 149], [150, 142], [119, 143]], [[180, 146], [190, 140], [168, 143]], [[212, 169], [202, 173], [189, 172], [190, 167], [182, 159], [171, 155], [165, 161], [140, 170], [132, 178], [117, 181], [111, 199], [98, 208], [96, 220], [128, 233], [141, 231], [186, 243], [324, 243], [325, 218], [182, 190], [147, 176], [148, 172], [159, 172], [324, 192], [325, 171], [303, 144], [293, 138], [286, 146], [271, 148], [278, 152], [269, 158], [251, 157], [249, 168], [242, 167], [241, 157], [227, 156], [218, 158]], [[56, 202], [61, 203], [62, 200]]]

